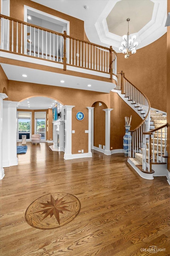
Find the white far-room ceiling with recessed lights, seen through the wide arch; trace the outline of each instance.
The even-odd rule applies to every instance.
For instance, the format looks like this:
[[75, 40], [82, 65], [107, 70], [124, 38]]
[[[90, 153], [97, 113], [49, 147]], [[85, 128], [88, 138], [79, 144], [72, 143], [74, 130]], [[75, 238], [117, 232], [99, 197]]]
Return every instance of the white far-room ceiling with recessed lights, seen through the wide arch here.
[[56, 103], [57, 101], [48, 97], [32, 97], [25, 99], [24, 101], [20, 101], [18, 109], [49, 109]]

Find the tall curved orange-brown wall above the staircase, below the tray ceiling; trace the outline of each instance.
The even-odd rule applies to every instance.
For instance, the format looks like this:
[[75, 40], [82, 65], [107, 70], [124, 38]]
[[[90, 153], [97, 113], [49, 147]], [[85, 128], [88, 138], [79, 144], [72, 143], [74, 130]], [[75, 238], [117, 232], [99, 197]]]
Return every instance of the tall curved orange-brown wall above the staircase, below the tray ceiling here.
[[167, 109], [167, 34], [155, 42], [138, 49], [125, 59], [118, 53], [117, 71], [125, 72], [125, 77], [144, 93], [151, 107], [166, 112]]

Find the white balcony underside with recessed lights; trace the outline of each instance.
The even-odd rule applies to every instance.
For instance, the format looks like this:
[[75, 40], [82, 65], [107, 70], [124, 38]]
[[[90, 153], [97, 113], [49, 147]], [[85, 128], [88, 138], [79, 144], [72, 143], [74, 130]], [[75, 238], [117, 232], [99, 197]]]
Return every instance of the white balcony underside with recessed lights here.
[[[1, 66], [8, 78], [8, 80], [38, 83], [43, 85], [53, 85], [88, 91], [100, 91], [103, 93], [110, 93], [115, 87], [111, 82], [104, 82], [89, 78], [76, 77], [73, 75], [54, 73], [39, 69], [31, 69], [28, 67], [15, 66], [10, 64], [1, 63]], [[23, 77], [25, 74], [27, 77]], [[64, 80], [64, 83], [60, 81]], [[88, 87], [87, 85], [91, 85]]]

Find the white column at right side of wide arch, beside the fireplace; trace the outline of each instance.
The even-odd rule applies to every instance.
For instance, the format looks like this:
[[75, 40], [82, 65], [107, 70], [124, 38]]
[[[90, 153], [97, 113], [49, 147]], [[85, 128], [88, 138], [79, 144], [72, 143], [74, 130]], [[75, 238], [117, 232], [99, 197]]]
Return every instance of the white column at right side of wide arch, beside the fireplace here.
[[75, 106], [64, 105], [65, 109], [65, 154], [64, 159], [73, 159], [71, 152], [71, 138], [72, 138], [72, 108]]

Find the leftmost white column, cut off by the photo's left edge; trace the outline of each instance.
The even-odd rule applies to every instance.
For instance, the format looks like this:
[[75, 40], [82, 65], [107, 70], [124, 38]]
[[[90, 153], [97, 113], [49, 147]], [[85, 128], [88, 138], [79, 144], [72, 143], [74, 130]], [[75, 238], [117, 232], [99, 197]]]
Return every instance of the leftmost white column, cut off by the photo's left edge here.
[[5, 93], [0, 93], [0, 179], [3, 179], [5, 176], [3, 165], [2, 165], [2, 129], [3, 129], [3, 99], [8, 98], [8, 96]]

